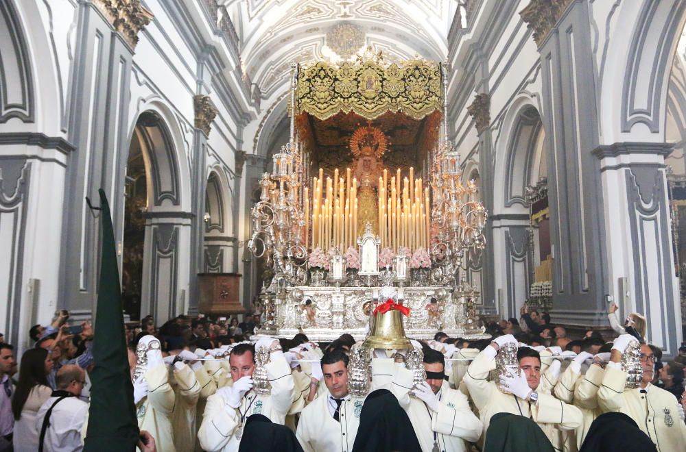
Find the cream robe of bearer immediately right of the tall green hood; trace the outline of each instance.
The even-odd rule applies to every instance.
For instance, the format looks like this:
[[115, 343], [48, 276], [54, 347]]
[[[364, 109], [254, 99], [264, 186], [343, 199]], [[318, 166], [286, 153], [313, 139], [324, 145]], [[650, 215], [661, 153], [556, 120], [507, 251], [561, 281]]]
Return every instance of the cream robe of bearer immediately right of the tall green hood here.
[[148, 369], [145, 373], [147, 396], [137, 405], [138, 426], [150, 431], [158, 451], [176, 451], [171, 430], [171, 412], [174, 410], [174, 389], [169, 384], [167, 366]]

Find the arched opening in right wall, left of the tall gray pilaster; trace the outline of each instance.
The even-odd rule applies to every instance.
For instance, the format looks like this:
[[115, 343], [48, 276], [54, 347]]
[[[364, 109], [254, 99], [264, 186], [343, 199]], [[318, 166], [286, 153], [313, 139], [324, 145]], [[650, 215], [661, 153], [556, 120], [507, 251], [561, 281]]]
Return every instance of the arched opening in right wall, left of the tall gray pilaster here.
[[493, 275], [501, 317], [517, 316], [525, 302], [549, 308], [550, 297], [541, 298], [539, 288], [552, 281], [543, 123], [526, 101], [510, 111], [497, 145], [493, 188]]

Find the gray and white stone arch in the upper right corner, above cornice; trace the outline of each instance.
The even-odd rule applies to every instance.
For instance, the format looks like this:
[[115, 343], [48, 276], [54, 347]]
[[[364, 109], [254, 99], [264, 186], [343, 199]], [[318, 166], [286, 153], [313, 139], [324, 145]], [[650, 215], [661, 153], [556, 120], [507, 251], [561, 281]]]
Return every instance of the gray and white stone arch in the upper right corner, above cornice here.
[[606, 144], [663, 142], [667, 86], [674, 53], [686, 20], [678, 0], [622, 2], [608, 29], [632, 24], [604, 45], [600, 68], [600, 136]]

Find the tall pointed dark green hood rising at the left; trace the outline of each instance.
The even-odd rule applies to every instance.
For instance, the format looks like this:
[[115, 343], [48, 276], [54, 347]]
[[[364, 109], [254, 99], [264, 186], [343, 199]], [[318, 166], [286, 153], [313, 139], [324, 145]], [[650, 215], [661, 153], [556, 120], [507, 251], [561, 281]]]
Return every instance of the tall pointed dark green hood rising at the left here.
[[91, 377], [91, 407], [84, 451], [134, 451], [139, 428], [133, 403], [133, 386], [126, 351], [119, 266], [115, 251], [110, 206], [100, 194], [102, 256], [95, 310], [95, 338]]

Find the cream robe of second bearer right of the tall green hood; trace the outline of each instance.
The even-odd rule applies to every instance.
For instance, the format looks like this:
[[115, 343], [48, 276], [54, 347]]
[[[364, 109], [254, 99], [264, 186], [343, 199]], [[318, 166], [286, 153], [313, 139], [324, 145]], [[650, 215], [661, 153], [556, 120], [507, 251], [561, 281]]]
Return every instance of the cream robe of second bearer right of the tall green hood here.
[[174, 364], [174, 411], [171, 426], [174, 427], [174, 445], [178, 452], [191, 452], [196, 443], [196, 406], [200, 396], [200, 384], [196, 374], [182, 362]]

